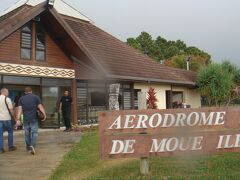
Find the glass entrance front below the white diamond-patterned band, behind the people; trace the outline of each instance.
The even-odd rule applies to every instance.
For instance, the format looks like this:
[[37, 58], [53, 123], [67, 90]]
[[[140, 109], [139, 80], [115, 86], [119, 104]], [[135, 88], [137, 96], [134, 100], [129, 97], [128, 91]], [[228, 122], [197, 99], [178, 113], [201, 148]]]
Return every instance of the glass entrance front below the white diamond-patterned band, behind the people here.
[[72, 79], [38, 78], [0, 75], [0, 87], [9, 89], [10, 98], [14, 103], [18, 97], [24, 95], [25, 87], [29, 86], [42, 100], [47, 120], [40, 123], [41, 128], [59, 128], [60, 117], [58, 113], [59, 100], [65, 90], [71, 93]]

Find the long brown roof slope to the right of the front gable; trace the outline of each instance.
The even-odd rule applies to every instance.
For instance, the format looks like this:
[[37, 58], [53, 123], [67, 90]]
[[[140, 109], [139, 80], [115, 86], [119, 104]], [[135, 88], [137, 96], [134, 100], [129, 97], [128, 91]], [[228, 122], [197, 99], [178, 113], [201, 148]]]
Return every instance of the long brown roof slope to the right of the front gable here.
[[89, 22], [62, 17], [110, 78], [195, 84], [195, 73], [161, 65]]

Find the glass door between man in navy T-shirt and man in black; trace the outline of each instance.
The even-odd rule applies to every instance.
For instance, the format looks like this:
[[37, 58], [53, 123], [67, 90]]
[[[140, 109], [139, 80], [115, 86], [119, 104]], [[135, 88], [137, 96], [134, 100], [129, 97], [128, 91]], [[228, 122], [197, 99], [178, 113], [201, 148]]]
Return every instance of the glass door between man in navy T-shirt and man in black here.
[[47, 114], [47, 120], [41, 122], [42, 128], [59, 128], [58, 100], [59, 87], [42, 87], [42, 102]]

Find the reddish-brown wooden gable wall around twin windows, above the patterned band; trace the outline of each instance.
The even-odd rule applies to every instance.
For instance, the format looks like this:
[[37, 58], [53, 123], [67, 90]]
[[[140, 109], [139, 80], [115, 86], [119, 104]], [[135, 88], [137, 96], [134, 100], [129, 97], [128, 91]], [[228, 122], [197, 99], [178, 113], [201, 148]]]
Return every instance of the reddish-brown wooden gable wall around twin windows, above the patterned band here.
[[[23, 60], [20, 57], [21, 30], [18, 29], [16, 32], [0, 42], [0, 62], [73, 69], [73, 61], [67, 57], [64, 51], [61, 50], [61, 48], [53, 41], [52, 37], [50, 37], [47, 32], [45, 32], [46, 61], [40, 62], [35, 60], [34, 37], [36, 34], [34, 27], [35, 23], [33, 23], [31, 60]], [[59, 63], [59, 61], [61, 61], [61, 63]]]

